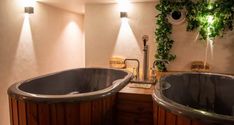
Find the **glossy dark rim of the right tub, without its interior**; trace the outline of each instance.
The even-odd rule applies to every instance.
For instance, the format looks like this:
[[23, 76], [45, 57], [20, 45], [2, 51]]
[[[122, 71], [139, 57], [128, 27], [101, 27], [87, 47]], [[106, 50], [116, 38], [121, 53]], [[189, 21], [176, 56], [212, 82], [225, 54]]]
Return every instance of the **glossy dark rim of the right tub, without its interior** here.
[[162, 93], [163, 89], [161, 80], [170, 77], [170, 76], [177, 76], [177, 75], [183, 75], [183, 74], [205, 74], [205, 75], [219, 75], [223, 77], [229, 77], [234, 79], [233, 75], [226, 75], [226, 74], [220, 74], [220, 73], [201, 73], [201, 72], [179, 72], [174, 73], [171, 75], [167, 75], [162, 77], [157, 84], [155, 85], [154, 92], [152, 94], [153, 100], [160, 106], [164, 107], [166, 110], [169, 110], [172, 113], [175, 113], [177, 115], [183, 115], [188, 116], [192, 119], [198, 119], [201, 121], [206, 121], [212, 123], [213, 121], [217, 122], [225, 122], [225, 123], [234, 123], [234, 116], [228, 116], [228, 115], [222, 115], [217, 113], [211, 113], [207, 111], [202, 111], [198, 109], [194, 109], [188, 106], [184, 106], [182, 104], [176, 103], [175, 101], [168, 99], [165, 97]]

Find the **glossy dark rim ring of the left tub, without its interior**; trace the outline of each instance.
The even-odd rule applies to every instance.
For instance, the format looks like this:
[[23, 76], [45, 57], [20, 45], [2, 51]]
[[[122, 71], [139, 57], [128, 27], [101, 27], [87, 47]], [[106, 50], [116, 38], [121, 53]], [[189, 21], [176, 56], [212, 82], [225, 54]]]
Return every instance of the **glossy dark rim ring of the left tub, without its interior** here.
[[[115, 70], [115, 71], [121, 71], [126, 73], [126, 76], [122, 79], [118, 79], [113, 81], [113, 84], [105, 89], [88, 92], [88, 93], [79, 93], [79, 94], [66, 94], [66, 95], [42, 95], [42, 94], [32, 94], [29, 92], [25, 92], [20, 90], [18, 87], [22, 85], [25, 82], [43, 78], [50, 75], [55, 75], [63, 72], [68, 71], [74, 71], [74, 70], [85, 70], [85, 69], [100, 69], [100, 70]], [[39, 77], [34, 77], [28, 80], [23, 80], [20, 82], [17, 82], [13, 85], [11, 85], [8, 88], [8, 95], [10, 97], [13, 97], [15, 99], [19, 100], [25, 100], [25, 101], [34, 101], [34, 102], [47, 102], [47, 103], [58, 103], [58, 102], [76, 102], [76, 101], [88, 101], [88, 100], [94, 100], [98, 98], [103, 98], [106, 96], [111, 96], [118, 91], [120, 91], [123, 87], [125, 87], [129, 81], [132, 78], [132, 73], [119, 70], [119, 69], [112, 69], [112, 68], [76, 68], [76, 69], [69, 69], [69, 70], [63, 70], [55, 73], [50, 73], [46, 75], [42, 75]]]

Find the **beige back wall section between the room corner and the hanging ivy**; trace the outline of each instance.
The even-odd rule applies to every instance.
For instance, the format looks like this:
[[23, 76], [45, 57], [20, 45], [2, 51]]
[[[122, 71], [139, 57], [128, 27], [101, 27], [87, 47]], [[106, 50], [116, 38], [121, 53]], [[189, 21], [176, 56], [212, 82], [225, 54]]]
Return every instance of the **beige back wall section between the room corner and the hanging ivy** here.
[[129, 5], [128, 22], [121, 21], [119, 5], [88, 4], [85, 14], [87, 67], [108, 67], [112, 56], [143, 59], [143, 35], [149, 35], [149, 60], [154, 60], [155, 3]]

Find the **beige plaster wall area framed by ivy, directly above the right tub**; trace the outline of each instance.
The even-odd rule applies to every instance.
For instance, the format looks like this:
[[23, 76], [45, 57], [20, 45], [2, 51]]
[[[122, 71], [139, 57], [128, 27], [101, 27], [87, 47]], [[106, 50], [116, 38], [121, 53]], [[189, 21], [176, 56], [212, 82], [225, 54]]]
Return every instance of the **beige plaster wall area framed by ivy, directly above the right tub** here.
[[[169, 65], [169, 70], [189, 71], [192, 61], [205, 61], [207, 44], [196, 40], [197, 32], [187, 32], [186, 22], [173, 26], [173, 53], [177, 55], [175, 61]], [[214, 40], [213, 55], [208, 49], [207, 62], [211, 72], [234, 74], [234, 32], [227, 32], [223, 38]]]

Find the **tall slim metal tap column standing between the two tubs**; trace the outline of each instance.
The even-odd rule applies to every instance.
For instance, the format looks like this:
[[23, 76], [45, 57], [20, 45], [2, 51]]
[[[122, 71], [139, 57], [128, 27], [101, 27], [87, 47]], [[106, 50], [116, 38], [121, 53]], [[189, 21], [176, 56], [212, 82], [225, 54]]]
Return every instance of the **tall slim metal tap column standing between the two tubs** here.
[[149, 40], [149, 36], [148, 35], [144, 35], [142, 37], [143, 40], [143, 44], [144, 44], [144, 57], [143, 57], [143, 80], [147, 81], [148, 80], [148, 45], [147, 45], [147, 41]]

